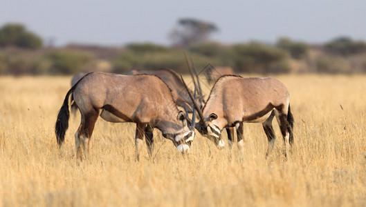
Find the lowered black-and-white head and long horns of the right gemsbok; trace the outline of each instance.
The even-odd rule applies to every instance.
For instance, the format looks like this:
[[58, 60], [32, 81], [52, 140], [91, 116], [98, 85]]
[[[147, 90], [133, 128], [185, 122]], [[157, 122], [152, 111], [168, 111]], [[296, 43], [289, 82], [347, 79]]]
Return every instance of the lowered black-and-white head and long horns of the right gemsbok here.
[[[214, 119], [217, 119], [217, 115], [212, 113], [207, 118], [203, 117], [203, 113], [201, 111], [201, 108], [199, 108], [199, 104], [196, 102], [195, 97], [192, 95], [190, 90], [188, 90], [187, 85], [183, 80], [183, 77], [181, 77], [181, 79], [183, 81], [185, 89], [188, 92], [188, 95], [190, 95], [190, 98], [192, 99], [192, 102], [194, 104], [195, 110], [193, 110], [193, 112], [197, 111], [201, 119], [198, 123], [196, 123], [193, 119], [188, 121], [190, 122], [190, 127], [196, 128], [196, 130], [198, 130], [201, 135], [213, 141], [217, 148], [222, 149], [225, 146], [225, 141], [221, 139], [221, 130], [219, 129], [219, 127], [212, 123]], [[194, 90], [196, 90], [196, 84], [194, 84]]]

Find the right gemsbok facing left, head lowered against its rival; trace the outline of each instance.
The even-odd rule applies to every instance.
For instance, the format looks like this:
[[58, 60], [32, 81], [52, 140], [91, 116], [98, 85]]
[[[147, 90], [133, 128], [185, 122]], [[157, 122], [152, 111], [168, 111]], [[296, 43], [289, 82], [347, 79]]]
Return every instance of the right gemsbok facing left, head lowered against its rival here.
[[[192, 101], [194, 97], [188, 91]], [[290, 109], [289, 91], [277, 79], [243, 78], [237, 75], [220, 77], [210, 92], [208, 101], [201, 111], [194, 104], [200, 121], [196, 124], [201, 135], [214, 141], [218, 148], [223, 148], [225, 142], [221, 139], [221, 130], [235, 126], [237, 129], [237, 146], [243, 149], [243, 123], [262, 123], [268, 138], [266, 157], [275, 145], [273, 117], [280, 125], [286, 152], [293, 144], [293, 115]], [[232, 140], [229, 137], [229, 144]], [[287, 155], [285, 152], [285, 156]]]

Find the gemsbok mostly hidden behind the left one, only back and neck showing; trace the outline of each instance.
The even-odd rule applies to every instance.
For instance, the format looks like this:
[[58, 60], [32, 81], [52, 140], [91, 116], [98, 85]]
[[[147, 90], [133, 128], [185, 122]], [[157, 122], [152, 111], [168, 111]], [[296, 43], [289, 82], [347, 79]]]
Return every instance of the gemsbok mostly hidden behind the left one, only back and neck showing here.
[[[149, 74], [156, 75], [161, 78], [167, 86], [172, 90], [172, 95], [176, 105], [185, 108], [185, 104], [193, 106], [190, 95], [188, 95], [185, 89], [181, 77], [177, 72], [169, 68], [161, 68], [160, 70], [131, 70], [127, 75], [139, 75], [139, 74]], [[199, 107], [203, 106], [203, 100], [199, 97]], [[191, 108], [187, 108], [188, 112], [192, 112]]]

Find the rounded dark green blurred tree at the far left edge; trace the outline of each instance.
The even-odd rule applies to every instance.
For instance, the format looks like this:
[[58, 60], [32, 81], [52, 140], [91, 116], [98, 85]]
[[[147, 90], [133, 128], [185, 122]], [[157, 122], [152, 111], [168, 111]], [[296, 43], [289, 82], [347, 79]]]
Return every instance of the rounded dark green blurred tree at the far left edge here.
[[37, 34], [27, 31], [21, 24], [8, 23], [0, 28], [0, 47], [37, 49], [41, 48], [42, 44], [42, 39]]

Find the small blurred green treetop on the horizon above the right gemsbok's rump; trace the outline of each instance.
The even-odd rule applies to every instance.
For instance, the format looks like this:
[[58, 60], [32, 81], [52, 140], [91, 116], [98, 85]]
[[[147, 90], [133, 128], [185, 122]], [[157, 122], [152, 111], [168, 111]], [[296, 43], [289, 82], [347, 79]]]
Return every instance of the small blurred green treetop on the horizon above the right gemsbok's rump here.
[[309, 46], [306, 43], [292, 41], [287, 37], [281, 37], [278, 39], [276, 45], [278, 48], [289, 51], [291, 57], [294, 59], [302, 59], [302, 57], [306, 56], [309, 49]]

